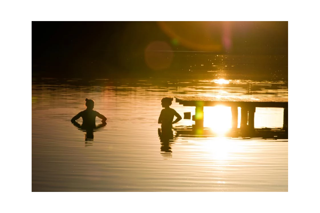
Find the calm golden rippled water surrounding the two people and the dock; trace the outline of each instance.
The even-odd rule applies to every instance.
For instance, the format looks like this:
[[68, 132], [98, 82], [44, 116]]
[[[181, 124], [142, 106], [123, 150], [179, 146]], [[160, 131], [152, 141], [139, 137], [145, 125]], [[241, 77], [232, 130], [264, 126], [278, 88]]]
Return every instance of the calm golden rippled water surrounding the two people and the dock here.
[[[288, 83], [33, 78], [31, 190], [287, 192], [288, 139], [195, 138], [174, 131], [168, 143], [160, 140], [163, 97], [216, 95], [287, 98]], [[95, 100], [106, 126], [86, 132], [70, 122], [85, 109], [85, 98]], [[171, 107], [182, 117], [195, 114], [195, 107], [175, 101]], [[205, 107], [204, 113], [216, 118], [205, 117], [206, 127], [231, 126], [228, 107]], [[192, 120], [174, 125], [191, 126]], [[256, 109], [256, 128], [282, 125], [283, 109]]]

